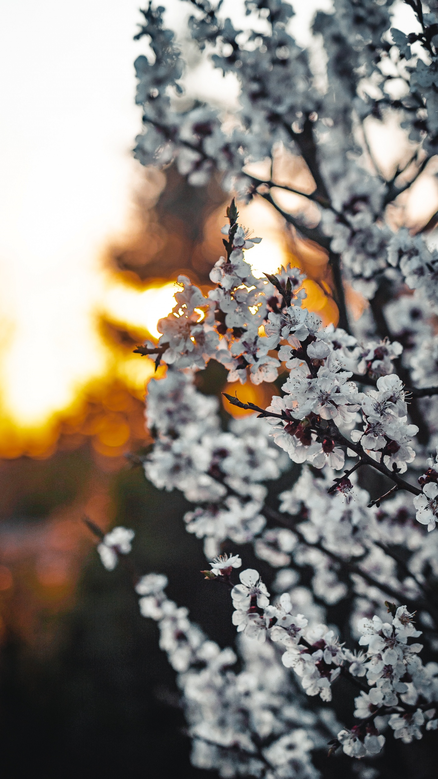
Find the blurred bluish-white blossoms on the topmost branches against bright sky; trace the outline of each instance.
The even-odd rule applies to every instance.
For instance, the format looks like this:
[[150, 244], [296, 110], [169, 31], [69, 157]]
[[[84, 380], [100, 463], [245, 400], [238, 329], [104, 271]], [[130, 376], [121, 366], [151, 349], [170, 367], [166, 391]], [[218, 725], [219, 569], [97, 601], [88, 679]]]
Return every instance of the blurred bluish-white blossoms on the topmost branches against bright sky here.
[[[394, 283], [397, 268], [408, 286], [436, 302], [436, 251], [422, 235], [412, 237], [404, 228], [394, 233], [385, 216], [388, 203], [412, 185], [435, 153], [436, 10], [419, 16], [416, 9], [418, 21], [412, 13], [412, 24], [420, 22], [423, 33], [406, 36], [391, 27], [392, 0], [335, 0], [334, 15], [320, 11], [313, 19], [313, 35], [322, 37], [327, 59], [321, 73], [312, 48], [301, 48], [291, 35], [294, 12], [288, 2], [247, 0], [245, 30], [224, 17], [221, 4], [189, 5], [190, 44], [210, 66], [235, 79], [238, 107], [221, 111], [213, 102], [181, 100], [187, 41], [164, 27], [164, 9], [150, 3], [137, 35], [148, 38], [152, 56], [136, 60], [136, 100], [143, 107], [136, 157], [161, 166], [175, 160], [196, 186], [217, 171], [226, 191], [251, 199], [281, 187], [281, 177], [266, 184], [248, 172], [249, 163], [274, 157], [280, 145], [306, 161], [320, 210], [320, 224], [309, 231], [303, 192], [302, 205], [289, 215], [291, 224], [341, 254], [344, 272], [366, 297]], [[412, 143], [412, 159], [389, 181], [369, 148], [364, 122], [370, 115], [381, 121], [396, 115]], [[275, 197], [270, 203], [281, 210]]]

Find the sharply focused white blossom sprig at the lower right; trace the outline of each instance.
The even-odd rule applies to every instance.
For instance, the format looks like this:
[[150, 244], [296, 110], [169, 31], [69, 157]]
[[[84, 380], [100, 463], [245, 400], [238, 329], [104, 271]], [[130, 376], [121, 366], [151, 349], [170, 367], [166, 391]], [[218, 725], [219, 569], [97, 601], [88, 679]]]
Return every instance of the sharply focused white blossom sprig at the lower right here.
[[[419, 726], [426, 721], [429, 730], [438, 727], [438, 720], [433, 719], [435, 709], [428, 707], [438, 700], [438, 668], [436, 664], [424, 668], [419, 658], [422, 644], [408, 643], [421, 636], [421, 631], [414, 628], [413, 615], [405, 606], [390, 605], [394, 612], [391, 622], [383, 622], [376, 615], [372, 620], [359, 620], [359, 645], [368, 649], [356, 654], [346, 649], [326, 625], [309, 628], [304, 615], [293, 615], [288, 593], [282, 594], [276, 605], [270, 605], [258, 571], [246, 569], [239, 578], [241, 583], [231, 590], [233, 624], [249, 638], [264, 643], [268, 637], [284, 647], [281, 661], [286, 668], [293, 668], [307, 695], [330, 701], [331, 686], [343, 669], [348, 668], [359, 679], [366, 676], [369, 691], [362, 690], [355, 699], [355, 717], [365, 723], [337, 735], [346, 754], [363, 757], [380, 752], [385, 738], [373, 724], [379, 714], [391, 714], [390, 728], [395, 738], [405, 743], [422, 738]], [[415, 709], [420, 698], [425, 704]]]

